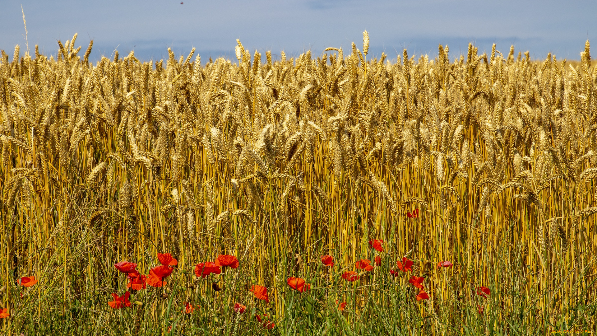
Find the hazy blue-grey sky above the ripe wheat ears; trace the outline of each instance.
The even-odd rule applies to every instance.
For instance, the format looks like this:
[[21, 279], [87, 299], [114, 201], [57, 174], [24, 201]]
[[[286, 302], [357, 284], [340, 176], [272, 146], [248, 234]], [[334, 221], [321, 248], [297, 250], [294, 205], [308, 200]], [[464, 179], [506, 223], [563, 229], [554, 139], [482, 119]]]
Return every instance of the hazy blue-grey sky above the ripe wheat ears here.
[[[597, 0], [0, 0], [0, 49], [11, 57], [14, 46], [33, 53], [36, 44], [56, 55], [57, 41], [78, 33], [81, 56], [90, 39], [90, 60], [126, 56], [134, 50], [140, 60], [167, 59], [168, 47], [177, 57], [191, 48], [209, 57], [235, 59], [236, 39], [253, 53], [271, 50], [289, 57], [311, 50], [318, 56], [327, 47], [350, 53], [362, 49], [362, 32], [370, 35], [370, 57], [382, 52], [396, 60], [407, 48], [417, 57], [437, 55], [438, 45], [450, 47], [450, 57], [466, 54], [469, 42], [479, 53], [507, 54], [510, 45], [530, 51], [532, 59], [547, 53], [558, 59], [580, 59], [584, 42], [597, 46]], [[595, 49], [594, 49], [595, 50]], [[593, 51], [597, 55], [597, 51]], [[264, 61], [264, 57], [263, 57]]]

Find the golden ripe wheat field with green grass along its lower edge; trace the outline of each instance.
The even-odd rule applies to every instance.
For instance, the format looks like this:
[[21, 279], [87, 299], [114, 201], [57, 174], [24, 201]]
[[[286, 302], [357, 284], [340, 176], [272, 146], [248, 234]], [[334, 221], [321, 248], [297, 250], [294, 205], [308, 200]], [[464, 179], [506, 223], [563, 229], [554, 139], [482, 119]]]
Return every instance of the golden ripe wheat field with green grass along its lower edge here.
[[[2, 332], [597, 332], [589, 41], [572, 62], [237, 42], [204, 65], [92, 64], [76, 35], [2, 51]], [[238, 268], [201, 276], [219, 255]], [[127, 289], [122, 261], [171, 274]]]

